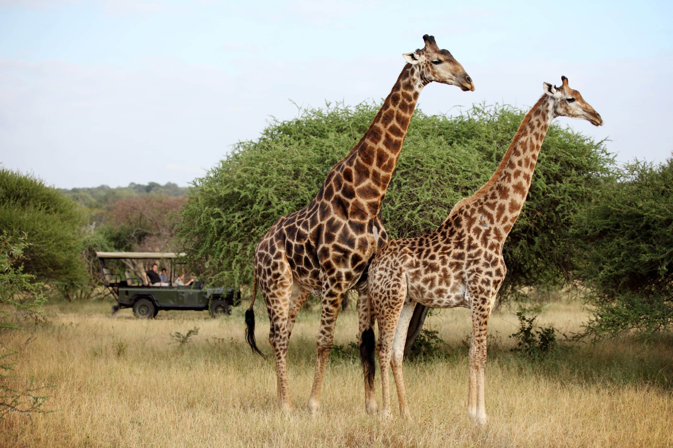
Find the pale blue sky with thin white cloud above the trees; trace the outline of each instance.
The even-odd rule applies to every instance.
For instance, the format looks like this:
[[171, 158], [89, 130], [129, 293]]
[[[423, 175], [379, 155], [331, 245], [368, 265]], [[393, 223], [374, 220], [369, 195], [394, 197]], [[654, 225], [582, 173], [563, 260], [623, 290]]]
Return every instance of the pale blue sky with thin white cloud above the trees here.
[[672, 22], [671, 1], [0, 0], [0, 162], [63, 188], [187, 185], [289, 99], [386, 97], [423, 34], [476, 87], [429, 85], [426, 114], [527, 107], [565, 75], [605, 124], [557, 122], [664, 161]]

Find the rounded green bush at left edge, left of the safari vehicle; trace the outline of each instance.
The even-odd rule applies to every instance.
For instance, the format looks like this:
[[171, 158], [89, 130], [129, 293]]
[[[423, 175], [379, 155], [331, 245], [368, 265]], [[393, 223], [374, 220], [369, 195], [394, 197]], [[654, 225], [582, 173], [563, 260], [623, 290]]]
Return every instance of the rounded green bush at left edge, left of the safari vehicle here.
[[26, 238], [27, 273], [49, 283], [85, 281], [84, 223], [83, 210], [57, 189], [0, 167], [0, 228], [11, 240]]

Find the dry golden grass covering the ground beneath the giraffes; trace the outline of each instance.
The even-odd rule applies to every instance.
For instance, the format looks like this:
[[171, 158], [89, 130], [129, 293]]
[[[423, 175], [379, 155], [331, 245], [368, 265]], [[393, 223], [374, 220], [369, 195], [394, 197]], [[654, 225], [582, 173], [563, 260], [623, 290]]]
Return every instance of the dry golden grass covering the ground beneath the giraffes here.
[[[487, 367], [489, 424], [464, 416], [466, 310], [429, 318], [447, 342], [446, 355], [406, 363], [413, 421], [382, 422], [363, 410], [361, 373], [347, 343], [357, 316], [339, 318], [322, 412], [304, 410], [314, 369], [317, 312], [302, 311], [291, 341], [289, 375], [295, 411], [275, 408], [273, 363], [244, 345], [242, 308], [229, 318], [160, 312], [141, 321], [109, 304], [55, 304], [50, 323], [0, 335], [20, 349], [17, 377], [55, 384], [42, 415], [11, 414], [0, 422], [0, 446], [671, 446], [671, 340], [646, 352], [625, 341], [565, 347], [544, 361], [509, 351], [516, 316], [491, 318]], [[563, 332], [576, 331], [578, 304], [554, 304], [540, 316]], [[257, 311], [258, 341], [270, 353], [267, 318]], [[171, 332], [199, 327], [192, 343], [171, 344]], [[28, 337], [35, 339], [28, 345]], [[377, 379], [377, 389], [380, 383]], [[396, 396], [393, 396], [396, 404]], [[380, 397], [379, 397], [380, 402]]]

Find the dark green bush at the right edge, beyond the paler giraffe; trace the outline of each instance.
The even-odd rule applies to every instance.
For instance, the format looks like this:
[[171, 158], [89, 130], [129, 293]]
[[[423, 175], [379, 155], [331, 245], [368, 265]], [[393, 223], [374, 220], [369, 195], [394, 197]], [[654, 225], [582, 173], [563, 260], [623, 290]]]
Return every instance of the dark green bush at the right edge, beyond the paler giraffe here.
[[598, 191], [576, 234], [577, 275], [596, 307], [587, 334], [635, 330], [651, 339], [673, 328], [673, 159], [625, 165]]

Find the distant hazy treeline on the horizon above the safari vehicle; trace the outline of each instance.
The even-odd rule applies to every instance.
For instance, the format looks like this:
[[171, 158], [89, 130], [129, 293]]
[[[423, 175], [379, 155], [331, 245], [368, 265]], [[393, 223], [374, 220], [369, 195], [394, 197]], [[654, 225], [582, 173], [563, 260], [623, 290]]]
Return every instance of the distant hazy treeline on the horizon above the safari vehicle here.
[[111, 188], [108, 185], [100, 185], [99, 187], [88, 188], [61, 188], [60, 191], [81, 206], [95, 210], [104, 209], [112, 202], [125, 197], [139, 197], [149, 194], [184, 196], [188, 189], [189, 187], [178, 187], [176, 183], [172, 182], [168, 182], [166, 185], [156, 182], [149, 182], [147, 185], [131, 182], [128, 187]]

